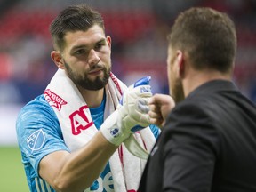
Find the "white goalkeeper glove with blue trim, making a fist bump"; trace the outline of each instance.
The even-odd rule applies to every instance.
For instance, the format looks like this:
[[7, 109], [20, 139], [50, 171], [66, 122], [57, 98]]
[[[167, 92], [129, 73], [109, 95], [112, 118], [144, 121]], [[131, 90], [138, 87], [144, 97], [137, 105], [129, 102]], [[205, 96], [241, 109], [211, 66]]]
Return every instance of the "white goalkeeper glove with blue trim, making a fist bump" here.
[[[147, 76], [132, 84], [124, 92], [116, 111], [108, 116], [100, 126], [100, 131], [104, 137], [114, 145], [119, 146], [124, 140], [130, 138], [133, 132], [148, 126], [147, 103], [152, 96], [151, 86], [149, 85], [150, 79], [151, 77]], [[131, 140], [130, 143], [129, 141], [125, 142], [127, 142], [127, 145], [134, 146], [134, 143], [131, 144]], [[137, 144], [135, 145], [138, 147], [139, 144]]]

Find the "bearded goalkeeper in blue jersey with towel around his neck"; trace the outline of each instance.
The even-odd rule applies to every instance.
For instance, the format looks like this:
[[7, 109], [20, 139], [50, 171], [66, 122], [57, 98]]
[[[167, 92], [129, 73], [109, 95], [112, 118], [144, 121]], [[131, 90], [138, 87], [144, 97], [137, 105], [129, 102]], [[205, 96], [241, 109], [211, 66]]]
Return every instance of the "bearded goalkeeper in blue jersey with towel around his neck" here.
[[51, 58], [58, 70], [44, 94], [21, 109], [16, 124], [32, 192], [138, 189], [159, 134], [148, 127], [150, 78], [126, 89], [113, 75], [103, 23], [83, 4], [52, 21]]

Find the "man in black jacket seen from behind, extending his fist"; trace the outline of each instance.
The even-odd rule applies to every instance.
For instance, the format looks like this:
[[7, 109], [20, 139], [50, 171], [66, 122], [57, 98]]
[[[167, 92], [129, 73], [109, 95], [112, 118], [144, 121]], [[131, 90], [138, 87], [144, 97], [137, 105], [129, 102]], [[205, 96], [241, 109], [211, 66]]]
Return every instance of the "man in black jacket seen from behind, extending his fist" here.
[[234, 23], [225, 13], [191, 8], [168, 41], [176, 106], [161, 94], [149, 102], [151, 123], [164, 127], [139, 191], [256, 191], [256, 107], [232, 83]]

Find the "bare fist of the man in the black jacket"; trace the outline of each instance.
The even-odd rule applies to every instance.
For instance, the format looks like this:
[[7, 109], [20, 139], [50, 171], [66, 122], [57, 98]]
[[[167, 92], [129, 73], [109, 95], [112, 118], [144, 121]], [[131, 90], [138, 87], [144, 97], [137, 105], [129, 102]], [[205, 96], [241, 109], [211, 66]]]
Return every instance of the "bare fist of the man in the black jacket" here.
[[148, 102], [150, 123], [162, 128], [168, 114], [175, 107], [175, 102], [170, 95], [155, 94]]

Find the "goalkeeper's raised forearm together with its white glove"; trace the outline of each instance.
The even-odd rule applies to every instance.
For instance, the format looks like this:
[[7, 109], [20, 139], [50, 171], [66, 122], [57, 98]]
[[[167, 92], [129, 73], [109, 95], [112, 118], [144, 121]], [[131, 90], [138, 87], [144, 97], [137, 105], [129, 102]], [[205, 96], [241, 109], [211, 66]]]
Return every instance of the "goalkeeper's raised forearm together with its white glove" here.
[[[83, 191], [98, 179], [116, 148], [132, 134], [136, 125], [148, 126], [148, 112], [140, 111], [139, 101], [152, 96], [150, 79], [140, 80], [124, 92], [122, 105], [101, 124], [100, 132], [75, 152], [53, 152], [39, 163], [39, 174], [57, 191]], [[74, 141], [76, 142], [76, 141]]]

